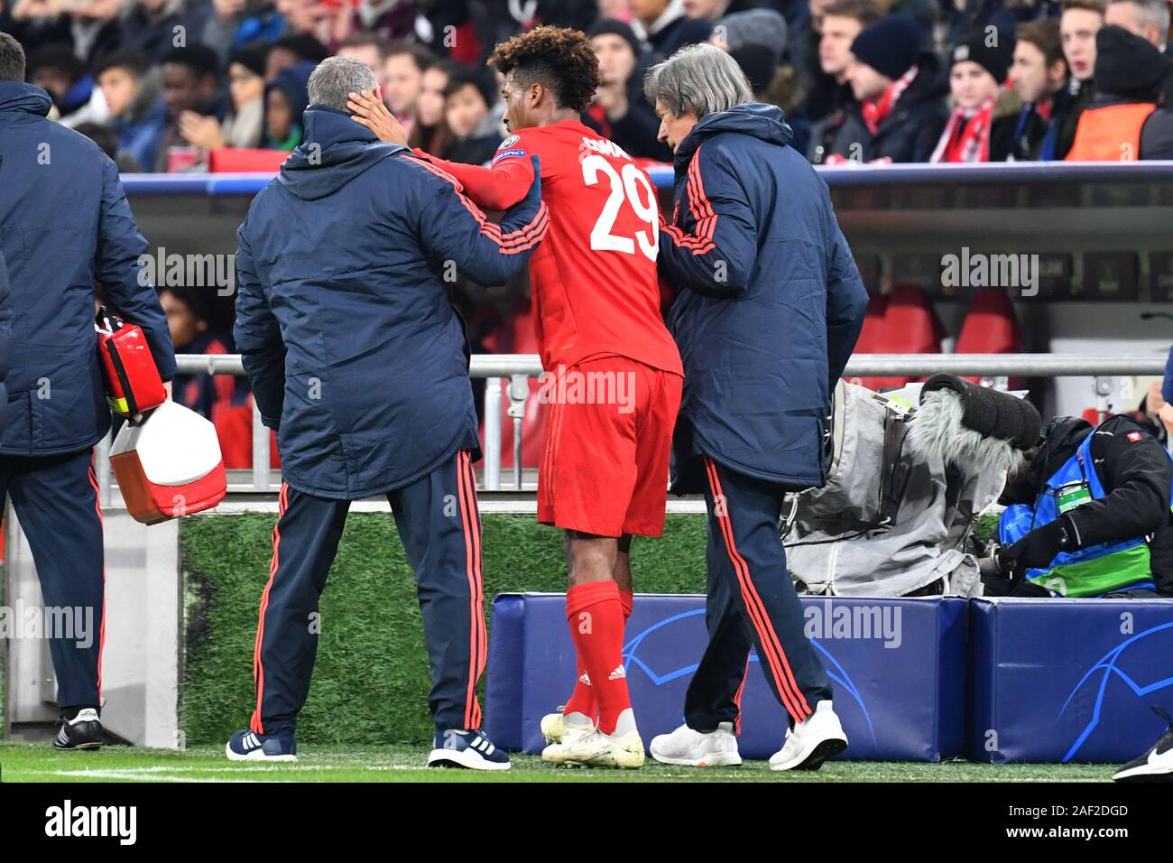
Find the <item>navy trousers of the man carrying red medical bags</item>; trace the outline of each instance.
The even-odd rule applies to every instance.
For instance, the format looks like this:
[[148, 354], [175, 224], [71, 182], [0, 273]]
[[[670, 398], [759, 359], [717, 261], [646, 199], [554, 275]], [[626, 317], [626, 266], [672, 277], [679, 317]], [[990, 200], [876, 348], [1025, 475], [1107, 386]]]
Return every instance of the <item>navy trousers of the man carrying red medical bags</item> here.
[[[106, 565], [93, 450], [65, 456], [0, 456], [0, 512], [12, 498], [33, 550], [42, 620], [61, 707], [99, 707]], [[53, 632], [48, 632], [50, 626]], [[86, 632], [82, 632], [86, 629]]]

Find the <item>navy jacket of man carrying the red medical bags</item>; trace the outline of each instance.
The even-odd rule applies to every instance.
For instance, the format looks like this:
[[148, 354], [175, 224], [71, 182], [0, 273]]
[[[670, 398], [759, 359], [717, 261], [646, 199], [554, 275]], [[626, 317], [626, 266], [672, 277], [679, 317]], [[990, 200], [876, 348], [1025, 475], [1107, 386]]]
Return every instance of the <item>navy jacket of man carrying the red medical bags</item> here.
[[142, 258], [118, 169], [84, 135], [48, 120], [49, 94], [0, 81], [0, 252], [14, 315], [0, 402], [0, 454], [88, 450], [110, 429], [94, 333], [95, 286], [142, 328], [163, 380], [175, 376], [167, 316]]

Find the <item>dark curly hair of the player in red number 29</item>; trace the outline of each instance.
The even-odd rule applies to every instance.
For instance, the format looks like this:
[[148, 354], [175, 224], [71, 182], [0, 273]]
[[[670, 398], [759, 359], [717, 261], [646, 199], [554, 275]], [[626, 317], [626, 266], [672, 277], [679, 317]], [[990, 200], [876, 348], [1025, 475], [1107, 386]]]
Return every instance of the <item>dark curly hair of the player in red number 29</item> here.
[[524, 86], [541, 83], [554, 92], [560, 108], [584, 110], [601, 79], [598, 59], [586, 34], [568, 27], [535, 27], [497, 46], [489, 66], [514, 73]]

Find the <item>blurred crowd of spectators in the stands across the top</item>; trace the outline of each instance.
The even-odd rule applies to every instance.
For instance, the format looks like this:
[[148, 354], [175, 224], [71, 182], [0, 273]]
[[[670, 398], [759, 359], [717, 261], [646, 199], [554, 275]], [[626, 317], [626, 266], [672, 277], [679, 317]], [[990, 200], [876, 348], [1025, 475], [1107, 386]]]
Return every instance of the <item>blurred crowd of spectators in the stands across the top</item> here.
[[590, 34], [603, 85], [584, 120], [636, 157], [671, 161], [645, 70], [705, 40], [813, 162], [1173, 155], [1166, 0], [0, 1], [54, 116], [123, 171], [292, 150], [330, 55], [371, 67], [413, 146], [483, 163], [504, 136], [484, 60], [540, 23]]

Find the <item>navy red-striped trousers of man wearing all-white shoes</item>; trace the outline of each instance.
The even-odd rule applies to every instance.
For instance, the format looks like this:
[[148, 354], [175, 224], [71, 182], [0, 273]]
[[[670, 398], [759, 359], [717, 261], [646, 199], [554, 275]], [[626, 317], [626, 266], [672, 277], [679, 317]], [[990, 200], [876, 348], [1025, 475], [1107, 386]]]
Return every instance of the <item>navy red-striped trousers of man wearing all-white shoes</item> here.
[[791, 723], [830, 697], [830, 685], [802, 632], [802, 607], [779, 537], [785, 490], [705, 458], [708, 507], [708, 646], [684, 700], [690, 728], [738, 723], [751, 646]]

